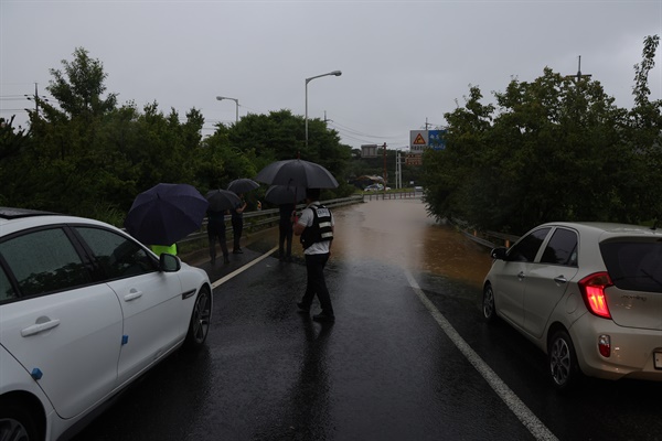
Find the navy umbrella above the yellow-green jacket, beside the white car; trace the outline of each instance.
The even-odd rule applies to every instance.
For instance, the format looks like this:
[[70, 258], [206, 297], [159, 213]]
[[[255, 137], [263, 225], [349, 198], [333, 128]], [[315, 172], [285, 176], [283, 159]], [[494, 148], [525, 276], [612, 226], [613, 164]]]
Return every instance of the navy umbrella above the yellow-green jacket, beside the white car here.
[[143, 244], [172, 245], [200, 229], [209, 202], [189, 184], [158, 184], [140, 193], [125, 219]]

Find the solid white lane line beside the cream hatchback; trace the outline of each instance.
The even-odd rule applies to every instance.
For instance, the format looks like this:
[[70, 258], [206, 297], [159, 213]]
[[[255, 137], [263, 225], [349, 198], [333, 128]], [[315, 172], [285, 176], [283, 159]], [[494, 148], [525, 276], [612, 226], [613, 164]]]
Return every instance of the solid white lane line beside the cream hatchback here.
[[433, 318], [437, 321], [441, 330], [448, 335], [448, 337], [455, 343], [455, 345], [460, 349], [460, 352], [467, 357], [469, 363], [473, 365], [476, 370], [482, 375], [482, 377], [488, 381], [488, 384], [492, 387], [492, 389], [499, 395], [499, 397], [505, 402], [505, 405], [511, 409], [511, 411], [517, 417], [517, 419], [528, 429], [531, 434], [535, 437], [536, 440], [545, 440], [553, 441], [558, 440], [554, 433], [543, 422], [522, 402], [522, 400], [511, 390], [510, 387], [499, 376], [482, 361], [482, 358], [469, 346], [467, 342], [458, 334], [458, 332], [452, 327], [450, 322], [446, 320], [444, 314], [439, 312], [439, 310], [435, 306], [435, 304], [425, 295], [425, 292], [414, 279], [414, 276], [408, 270], [405, 270], [405, 275], [407, 280], [409, 281], [409, 286], [418, 295], [418, 299], [423, 302], [423, 304], [428, 309]]

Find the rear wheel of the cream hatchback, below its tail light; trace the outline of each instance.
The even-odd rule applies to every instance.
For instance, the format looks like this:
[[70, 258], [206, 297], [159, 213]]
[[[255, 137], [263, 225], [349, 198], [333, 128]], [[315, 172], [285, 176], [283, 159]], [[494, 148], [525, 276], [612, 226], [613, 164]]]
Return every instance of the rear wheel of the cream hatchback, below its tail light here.
[[558, 390], [573, 389], [581, 376], [581, 370], [577, 363], [575, 345], [566, 331], [557, 331], [549, 340], [547, 359], [554, 387]]

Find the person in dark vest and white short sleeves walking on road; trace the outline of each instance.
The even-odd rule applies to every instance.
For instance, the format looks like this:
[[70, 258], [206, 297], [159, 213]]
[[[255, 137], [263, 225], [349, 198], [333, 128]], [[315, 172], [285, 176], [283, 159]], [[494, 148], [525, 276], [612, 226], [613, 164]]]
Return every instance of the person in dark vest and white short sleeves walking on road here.
[[306, 190], [306, 208], [293, 226], [293, 233], [301, 238], [306, 257], [307, 283], [306, 292], [297, 303], [302, 311], [310, 311], [312, 300], [317, 294], [322, 312], [312, 316], [317, 322], [334, 322], [331, 295], [324, 279], [324, 266], [331, 256], [333, 241], [333, 215], [320, 204], [320, 189]]

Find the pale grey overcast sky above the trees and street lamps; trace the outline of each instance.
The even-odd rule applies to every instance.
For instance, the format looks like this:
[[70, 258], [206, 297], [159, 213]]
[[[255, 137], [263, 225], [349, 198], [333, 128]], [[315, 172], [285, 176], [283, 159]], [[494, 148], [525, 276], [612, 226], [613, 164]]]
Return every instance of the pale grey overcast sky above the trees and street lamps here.
[[[47, 96], [51, 68], [76, 47], [100, 61], [107, 92], [139, 109], [157, 101], [183, 119], [205, 117], [203, 135], [246, 114], [324, 116], [342, 141], [409, 144], [409, 131], [446, 123], [469, 86], [485, 101], [512, 78], [545, 66], [591, 74], [630, 108], [643, 39], [662, 34], [661, 0], [624, 1], [33, 1], [0, 0], [0, 116]], [[662, 49], [650, 83], [661, 99]]]

